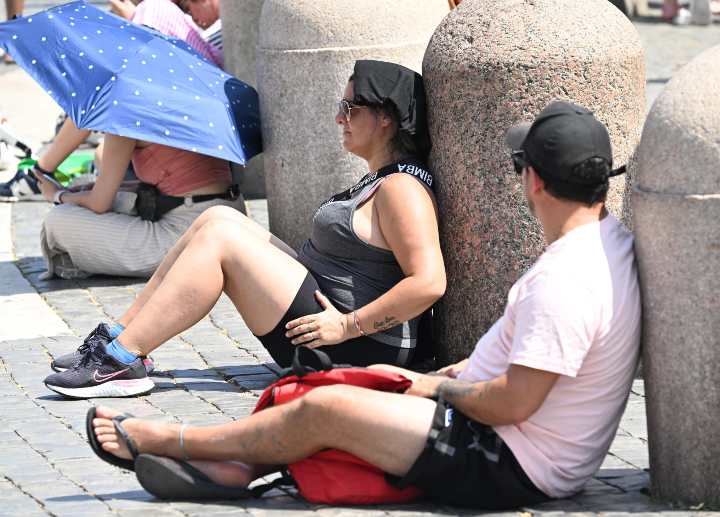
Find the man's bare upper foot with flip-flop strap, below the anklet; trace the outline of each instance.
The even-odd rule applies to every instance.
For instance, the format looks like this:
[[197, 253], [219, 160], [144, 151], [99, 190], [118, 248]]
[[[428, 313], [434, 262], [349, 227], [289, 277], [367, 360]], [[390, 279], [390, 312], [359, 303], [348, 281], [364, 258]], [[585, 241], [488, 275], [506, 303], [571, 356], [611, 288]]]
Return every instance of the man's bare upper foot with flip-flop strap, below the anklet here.
[[[95, 410], [95, 419], [93, 420], [93, 428], [95, 436], [102, 445], [102, 448], [123, 459], [132, 459], [132, 455], [127, 448], [125, 440], [119, 436], [112, 418], [120, 415], [119, 411], [110, 409], [105, 406], [98, 406]], [[128, 418], [122, 422], [123, 429], [130, 438], [133, 439], [138, 448], [138, 452], [147, 452], [158, 454], [161, 456], [176, 457], [179, 448], [179, 429], [177, 424], [165, 424], [162, 422], [152, 422], [149, 420], [140, 420], [138, 418]], [[172, 452], [175, 451], [175, 454]]]

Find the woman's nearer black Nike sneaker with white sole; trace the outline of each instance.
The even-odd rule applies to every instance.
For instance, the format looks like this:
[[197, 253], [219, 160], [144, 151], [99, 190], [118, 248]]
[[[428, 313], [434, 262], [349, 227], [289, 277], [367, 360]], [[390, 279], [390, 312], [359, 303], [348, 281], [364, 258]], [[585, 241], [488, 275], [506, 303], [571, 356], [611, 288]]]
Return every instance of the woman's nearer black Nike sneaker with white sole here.
[[142, 358], [131, 364], [121, 363], [98, 342], [82, 356], [80, 362], [45, 378], [48, 389], [67, 397], [131, 397], [151, 391], [155, 383], [145, 371]]

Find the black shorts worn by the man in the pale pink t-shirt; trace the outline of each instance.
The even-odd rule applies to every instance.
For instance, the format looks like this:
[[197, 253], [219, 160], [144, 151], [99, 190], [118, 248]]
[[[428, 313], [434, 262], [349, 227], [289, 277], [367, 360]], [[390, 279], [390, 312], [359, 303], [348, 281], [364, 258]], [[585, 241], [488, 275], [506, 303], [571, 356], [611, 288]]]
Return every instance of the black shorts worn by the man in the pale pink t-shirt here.
[[429, 498], [454, 506], [505, 510], [547, 501], [492, 427], [438, 401], [425, 449], [408, 473], [388, 481], [414, 485]]

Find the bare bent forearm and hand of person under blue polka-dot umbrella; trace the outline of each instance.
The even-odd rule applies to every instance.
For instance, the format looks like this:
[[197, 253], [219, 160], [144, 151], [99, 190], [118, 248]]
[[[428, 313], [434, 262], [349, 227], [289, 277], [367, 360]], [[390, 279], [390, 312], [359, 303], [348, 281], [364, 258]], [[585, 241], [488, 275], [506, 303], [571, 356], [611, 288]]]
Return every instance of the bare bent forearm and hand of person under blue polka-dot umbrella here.
[[72, 203], [98, 214], [107, 212], [112, 207], [115, 194], [125, 178], [136, 144], [137, 140], [132, 138], [117, 135], [105, 136], [103, 168], [92, 190], [68, 192], [58, 189], [53, 183], [38, 174], [40, 190], [48, 201]]

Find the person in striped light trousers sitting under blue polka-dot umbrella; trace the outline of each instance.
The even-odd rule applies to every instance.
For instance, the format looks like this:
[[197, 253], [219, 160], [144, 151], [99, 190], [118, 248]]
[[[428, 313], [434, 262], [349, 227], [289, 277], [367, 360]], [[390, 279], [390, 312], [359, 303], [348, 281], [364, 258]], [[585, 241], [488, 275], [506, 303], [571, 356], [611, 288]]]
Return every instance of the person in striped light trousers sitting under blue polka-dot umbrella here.
[[[231, 174], [226, 161], [110, 134], [105, 135], [100, 174], [92, 190], [59, 189], [43, 173], [54, 170], [82, 138], [83, 132], [68, 119], [34, 169], [45, 198], [59, 205], [45, 217], [40, 236], [48, 277], [147, 278], [207, 208], [245, 209], [242, 196], [229, 193]], [[156, 186], [160, 194], [186, 201], [156, 221], [143, 220], [132, 204], [118, 206], [116, 194], [131, 162], [139, 180]]]

